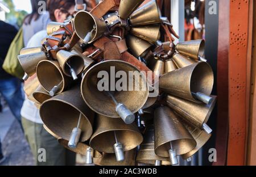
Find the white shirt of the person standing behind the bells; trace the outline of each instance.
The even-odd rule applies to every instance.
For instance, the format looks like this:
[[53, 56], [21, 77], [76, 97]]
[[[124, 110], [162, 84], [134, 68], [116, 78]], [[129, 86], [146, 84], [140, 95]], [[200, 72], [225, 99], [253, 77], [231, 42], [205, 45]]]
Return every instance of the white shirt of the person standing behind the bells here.
[[[31, 39], [28, 41], [27, 47], [37, 47], [42, 45], [41, 41], [47, 37], [47, 32], [39, 31]], [[27, 120], [30, 120], [34, 123], [43, 124], [43, 121], [39, 115], [39, 109], [36, 108], [35, 103], [25, 97], [22, 109], [20, 111], [20, 115]]]

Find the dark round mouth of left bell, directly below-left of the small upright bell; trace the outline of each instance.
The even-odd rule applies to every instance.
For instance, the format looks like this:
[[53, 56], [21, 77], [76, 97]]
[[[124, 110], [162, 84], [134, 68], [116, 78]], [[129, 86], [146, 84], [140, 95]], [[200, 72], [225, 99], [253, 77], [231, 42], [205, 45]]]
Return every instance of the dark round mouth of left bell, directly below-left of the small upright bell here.
[[36, 74], [40, 84], [46, 91], [51, 91], [54, 86], [63, 82], [56, 95], [63, 92], [65, 85], [64, 75], [61, 69], [54, 62], [49, 60], [39, 62]]

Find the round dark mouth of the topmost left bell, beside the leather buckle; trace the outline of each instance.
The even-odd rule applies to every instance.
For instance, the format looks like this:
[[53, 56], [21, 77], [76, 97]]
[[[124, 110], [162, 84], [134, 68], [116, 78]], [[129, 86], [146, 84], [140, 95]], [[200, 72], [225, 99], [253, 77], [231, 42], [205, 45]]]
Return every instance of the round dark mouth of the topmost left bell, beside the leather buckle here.
[[79, 36], [80, 39], [84, 40], [87, 33], [91, 32], [94, 26], [96, 27], [96, 30], [93, 31], [92, 39], [90, 40], [90, 42], [93, 41], [97, 36], [98, 27], [96, 24], [96, 20], [89, 12], [86, 11], [80, 11], [76, 14], [74, 20], [74, 28], [77, 36]]

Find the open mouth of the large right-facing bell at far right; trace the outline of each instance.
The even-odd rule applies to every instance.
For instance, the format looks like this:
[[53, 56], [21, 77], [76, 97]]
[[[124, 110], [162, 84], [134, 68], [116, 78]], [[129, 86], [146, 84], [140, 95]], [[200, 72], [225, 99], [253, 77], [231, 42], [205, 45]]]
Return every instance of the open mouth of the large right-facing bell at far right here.
[[201, 92], [205, 95], [210, 95], [213, 89], [214, 75], [212, 68], [207, 62], [198, 62], [194, 64], [195, 68], [191, 74], [191, 82], [189, 89], [192, 92]]

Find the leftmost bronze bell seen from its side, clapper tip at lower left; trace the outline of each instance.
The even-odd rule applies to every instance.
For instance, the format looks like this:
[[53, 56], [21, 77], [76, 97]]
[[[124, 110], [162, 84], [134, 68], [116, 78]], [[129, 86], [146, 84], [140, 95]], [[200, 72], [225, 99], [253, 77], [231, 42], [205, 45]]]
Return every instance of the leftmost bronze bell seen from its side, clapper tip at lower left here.
[[31, 77], [36, 73], [36, 66], [40, 61], [47, 60], [44, 52], [30, 53], [38, 50], [41, 50], [41, 48], [22, 49], [22, 53], [25, 54], [18, 56], [19, 63], [25, 72], [23, 77], [25, 81], [28, 79], [28, 77]]

